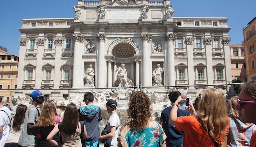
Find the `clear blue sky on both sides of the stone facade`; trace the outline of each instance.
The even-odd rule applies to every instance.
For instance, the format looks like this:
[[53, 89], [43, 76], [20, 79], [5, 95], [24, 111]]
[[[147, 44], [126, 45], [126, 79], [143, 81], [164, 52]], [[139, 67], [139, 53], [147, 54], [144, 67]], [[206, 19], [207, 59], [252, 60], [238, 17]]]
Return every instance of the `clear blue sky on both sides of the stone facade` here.
[[[227, 17], [230, 43], [241, 44], [242, 28], [256, 16], [256, 0], [171, 0], [176, 17]], [[0, 0], [0, 45], [19, 54], [22, 19], [75, 17], [77, 0]]]

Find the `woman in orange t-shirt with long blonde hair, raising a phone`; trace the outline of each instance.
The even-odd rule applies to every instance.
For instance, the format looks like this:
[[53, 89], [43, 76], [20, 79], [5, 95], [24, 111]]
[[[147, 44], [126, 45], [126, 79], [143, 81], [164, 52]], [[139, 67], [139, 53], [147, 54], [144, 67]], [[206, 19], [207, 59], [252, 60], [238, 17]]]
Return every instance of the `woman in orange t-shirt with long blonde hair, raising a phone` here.
[[201, 100], [196, 113], [189, 103], [189, 112], [193, 116], [177, 118], [178, 104], [186, 101], [179, 97], [173, 103], [170, 112], [170, 123], [177, 130], [184, 131], [184, 147], [217, 147], [225, 139], [229, 118], [226, 115], [226, 105], [222, 93], [216, 88], [206, 88], [202, 91]]

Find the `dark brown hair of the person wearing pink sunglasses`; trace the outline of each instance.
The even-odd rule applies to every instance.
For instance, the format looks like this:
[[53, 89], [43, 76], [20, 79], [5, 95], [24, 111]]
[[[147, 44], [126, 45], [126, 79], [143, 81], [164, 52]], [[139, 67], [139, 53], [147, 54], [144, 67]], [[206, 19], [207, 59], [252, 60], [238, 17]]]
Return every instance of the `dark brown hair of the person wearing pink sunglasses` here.
[[252, 100], [256, 101], [256, 80], [241, 85], [242, 91]]

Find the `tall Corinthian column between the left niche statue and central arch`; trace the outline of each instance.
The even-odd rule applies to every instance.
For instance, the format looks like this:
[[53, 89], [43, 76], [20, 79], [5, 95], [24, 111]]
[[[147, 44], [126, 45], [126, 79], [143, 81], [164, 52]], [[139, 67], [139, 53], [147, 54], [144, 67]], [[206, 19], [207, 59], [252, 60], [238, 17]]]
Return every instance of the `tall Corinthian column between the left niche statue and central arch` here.
[[98, 33], [98, 40], [99, 40], [99, 50], [97, 52], [97, 87], [103, 88], [106, 87], [106, 60], [105, 60], [105, 33]]

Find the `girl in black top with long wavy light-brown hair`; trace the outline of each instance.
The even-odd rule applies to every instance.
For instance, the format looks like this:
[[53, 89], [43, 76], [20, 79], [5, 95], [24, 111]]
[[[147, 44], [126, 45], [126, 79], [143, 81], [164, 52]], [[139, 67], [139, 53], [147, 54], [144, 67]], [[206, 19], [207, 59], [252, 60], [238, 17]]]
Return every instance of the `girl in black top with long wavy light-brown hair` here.
[[[54, 102], [52, 100], [46, 101], [38, 120], [38, 126], [41, 135], [40, 147], [54, 147], [46, 140], [46, 138], [53, 130], [54, 126], [60, 121], [61, 119], [57, 114]], [[54, 136], [54, 140], [58, 142], [59, 136]]]

